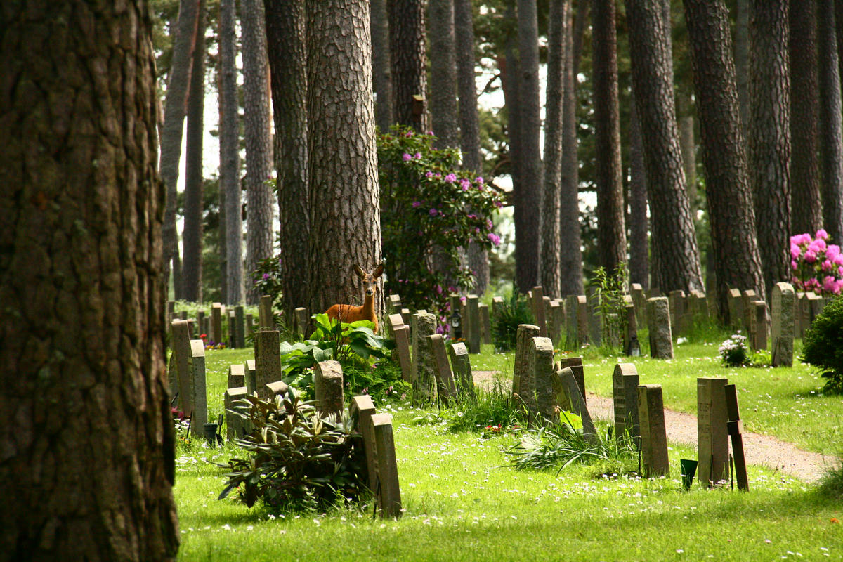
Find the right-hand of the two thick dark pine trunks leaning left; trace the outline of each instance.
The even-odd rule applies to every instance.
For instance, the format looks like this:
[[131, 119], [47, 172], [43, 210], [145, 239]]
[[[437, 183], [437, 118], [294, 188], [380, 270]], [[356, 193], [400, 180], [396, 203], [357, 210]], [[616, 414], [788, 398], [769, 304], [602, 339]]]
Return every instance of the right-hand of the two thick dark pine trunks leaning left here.
[[760, 294], [761, 260], [738, 116], [728, 10], [722, 0], [684, 0], [717, 273], [717, 305], [728, 317], [728, 288]]

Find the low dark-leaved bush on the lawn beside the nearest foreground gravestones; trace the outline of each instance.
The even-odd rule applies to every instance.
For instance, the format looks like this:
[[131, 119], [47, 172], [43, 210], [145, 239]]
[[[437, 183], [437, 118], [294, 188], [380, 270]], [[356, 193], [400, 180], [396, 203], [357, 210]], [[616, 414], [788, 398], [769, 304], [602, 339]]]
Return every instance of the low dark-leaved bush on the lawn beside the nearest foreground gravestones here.
[[273, 400], [247, 396], [232, 411], [254, 430], [237, 441], [249, 456], [228, 461], [218, 499], [237, 490], [249, 507], [262, 500], [277, 511], [312, 511], [368, 495], [365, 459], [347, 412], [320, 417], [293, 388]]

